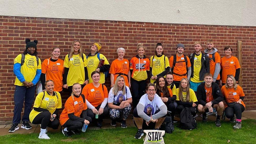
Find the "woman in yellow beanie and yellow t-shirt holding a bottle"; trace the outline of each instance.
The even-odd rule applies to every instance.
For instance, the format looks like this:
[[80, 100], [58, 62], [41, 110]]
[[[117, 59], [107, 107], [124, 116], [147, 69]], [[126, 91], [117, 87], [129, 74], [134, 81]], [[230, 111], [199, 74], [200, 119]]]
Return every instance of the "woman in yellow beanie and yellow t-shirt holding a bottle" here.
[[[90, 77], [90, 75], [93, 71], [100, 72], [99, 83], [105, 83], [105, 72], [109, 71], [109, 68], [110, 68], [107, 58], [103, 54], [99, 53], [100, 49], [101, 49], [101, 45], [96, 42], [91, 46], [89, 55], [86, 56], [87, 58], [86, 66], [88, 71], [89, 83], [92, 83], [92, 78]], [[104, 63], [102, 63], [99, 66], [101, 59], [104, 60]]]

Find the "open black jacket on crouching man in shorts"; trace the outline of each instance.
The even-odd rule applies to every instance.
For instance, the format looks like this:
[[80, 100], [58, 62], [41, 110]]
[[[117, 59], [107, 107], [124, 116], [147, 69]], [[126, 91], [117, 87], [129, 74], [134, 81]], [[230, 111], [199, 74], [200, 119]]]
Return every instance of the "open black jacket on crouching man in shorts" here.
[[[206, 105], [206, 93], [205, 93], [205, 82], [202, 82], [196, 92], [196, 98], [198, 100], [198, 104], [201, 104], [203, 106]], [[221, 93], [220, 87], [215, 82], [212, 82], [212, 104], [217, 104], [223, 100], [223, 95]]]

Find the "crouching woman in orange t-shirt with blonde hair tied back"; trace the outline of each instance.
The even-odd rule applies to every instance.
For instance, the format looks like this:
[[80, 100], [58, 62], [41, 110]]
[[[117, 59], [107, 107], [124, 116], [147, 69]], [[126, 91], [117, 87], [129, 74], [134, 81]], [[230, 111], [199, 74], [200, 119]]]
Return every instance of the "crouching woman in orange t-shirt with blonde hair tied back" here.
[[79, 134], [79, 129], [82, 129], [83, 124], [88, 125], [92, 121], [87, 116], [87, 105], [84, 95], [80, 94], [81, 90], [79, 83], [73, 84], [72, 94], [67, 99], [60, 115], [60, 124], [64, 127], [62, 133], [67, 137], [70, 137], [72, 133]]

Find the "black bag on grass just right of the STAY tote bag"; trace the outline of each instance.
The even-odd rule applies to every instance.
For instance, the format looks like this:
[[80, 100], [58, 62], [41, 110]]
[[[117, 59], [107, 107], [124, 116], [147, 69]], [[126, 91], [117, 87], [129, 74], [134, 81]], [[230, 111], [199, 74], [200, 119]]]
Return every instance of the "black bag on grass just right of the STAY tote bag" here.
[[160, 130], [164, 130], [168, 134], [174, 131], [174, 123], [172, 122], [172, 117], [169, 112], [167, 112], [164, 122], [162, 123]]

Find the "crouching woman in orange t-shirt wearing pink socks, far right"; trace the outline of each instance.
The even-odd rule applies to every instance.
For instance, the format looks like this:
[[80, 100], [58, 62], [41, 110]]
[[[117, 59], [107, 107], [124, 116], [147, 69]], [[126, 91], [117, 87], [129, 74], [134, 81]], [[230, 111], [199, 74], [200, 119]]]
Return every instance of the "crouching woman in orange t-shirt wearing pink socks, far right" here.
[[[233, 126], [234, 129], [242, 128], [242, 112], [245, 109], [245, 104], [243, 102], [244, 92], [243, 89], [238, 86], [236, 79], [227, 75], [226, 84], [222, 86], [221, 91], [223, 97], [226, 101], [225, 115], [231, 122], [236, 122]], [[234, 114], [236, 114], [236, 120], [234, 119]]]

